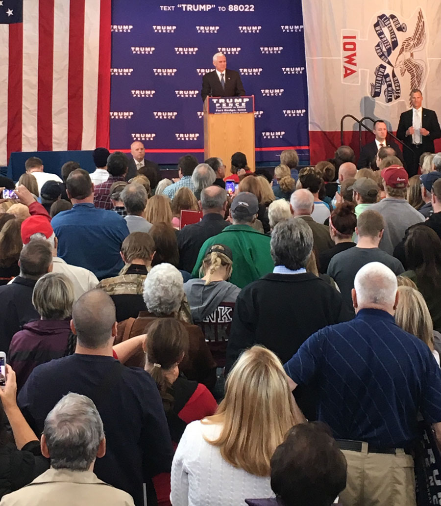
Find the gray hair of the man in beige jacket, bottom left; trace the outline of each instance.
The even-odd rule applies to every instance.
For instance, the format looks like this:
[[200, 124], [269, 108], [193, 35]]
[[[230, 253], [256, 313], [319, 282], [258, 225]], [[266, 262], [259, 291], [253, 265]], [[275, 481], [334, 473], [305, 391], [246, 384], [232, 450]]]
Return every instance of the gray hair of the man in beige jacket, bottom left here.
[[91, 399], [69, 393], [46, 416], [43, 434], [52, 468], [87, 471], [104, 439], [104, 427]]

